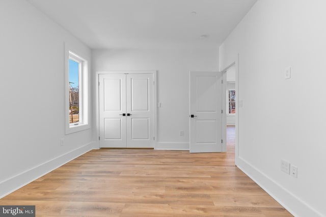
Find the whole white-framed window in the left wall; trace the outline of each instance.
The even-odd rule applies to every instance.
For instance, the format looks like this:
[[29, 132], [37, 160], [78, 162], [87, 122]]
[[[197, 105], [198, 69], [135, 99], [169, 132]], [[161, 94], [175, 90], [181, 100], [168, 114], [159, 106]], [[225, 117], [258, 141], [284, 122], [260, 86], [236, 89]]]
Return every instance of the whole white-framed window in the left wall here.
[[66, 134], [89, 129], [88, 63], [66, 47]]

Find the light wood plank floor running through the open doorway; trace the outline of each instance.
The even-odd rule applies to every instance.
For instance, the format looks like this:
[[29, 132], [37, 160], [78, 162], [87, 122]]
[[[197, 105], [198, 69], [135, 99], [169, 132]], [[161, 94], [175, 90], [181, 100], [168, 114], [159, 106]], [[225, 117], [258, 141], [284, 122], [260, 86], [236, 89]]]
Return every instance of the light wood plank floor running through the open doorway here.
[[292, 216], [228, 152], [92, 150], [0, 200], [36, 216]]

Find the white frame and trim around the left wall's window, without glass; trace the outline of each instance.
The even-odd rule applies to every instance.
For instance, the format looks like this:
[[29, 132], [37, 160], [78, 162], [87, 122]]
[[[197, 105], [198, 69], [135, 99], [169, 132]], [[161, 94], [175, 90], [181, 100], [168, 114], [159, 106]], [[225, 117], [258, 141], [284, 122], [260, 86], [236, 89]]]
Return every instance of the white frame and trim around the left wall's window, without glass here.
[[[78, 75], [78, 91], [79, 91], [79, 121], [78, 123], [69, 123], [69, 59], [79, 63]], [[72, 51], [69, 46], [65, 45], [65, 65], [66, 65], [66, 79], [65, 79], [65, 125], [66, 134], [75, 133], [90, 128], [89, 113], [88, 113], [88, 60]]]

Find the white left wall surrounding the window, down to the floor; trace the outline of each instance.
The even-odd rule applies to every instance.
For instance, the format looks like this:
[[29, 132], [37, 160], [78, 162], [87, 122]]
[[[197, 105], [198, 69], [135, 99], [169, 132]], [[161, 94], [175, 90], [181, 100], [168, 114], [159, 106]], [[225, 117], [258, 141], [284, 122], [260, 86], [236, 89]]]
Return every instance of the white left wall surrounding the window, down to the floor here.
[[91, 50], [24, 0], [0, 1], [0, 27], [1, 198], [91, 149], [94, 133], [65, 135], [64, 43]]

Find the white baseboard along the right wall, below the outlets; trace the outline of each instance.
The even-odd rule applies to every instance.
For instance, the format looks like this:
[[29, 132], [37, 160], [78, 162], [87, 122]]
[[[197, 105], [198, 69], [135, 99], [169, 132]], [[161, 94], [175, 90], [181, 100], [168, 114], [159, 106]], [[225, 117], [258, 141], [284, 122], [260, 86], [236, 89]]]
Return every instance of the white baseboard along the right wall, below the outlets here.
[[308, 205], [302, 199], [293, 195], [246, 160], [237, 158], [236, 166], [253, 179], [265, 192], [267, 192], [295, 217], [323, 216], [323, 214]]

